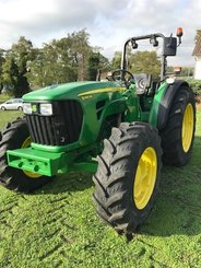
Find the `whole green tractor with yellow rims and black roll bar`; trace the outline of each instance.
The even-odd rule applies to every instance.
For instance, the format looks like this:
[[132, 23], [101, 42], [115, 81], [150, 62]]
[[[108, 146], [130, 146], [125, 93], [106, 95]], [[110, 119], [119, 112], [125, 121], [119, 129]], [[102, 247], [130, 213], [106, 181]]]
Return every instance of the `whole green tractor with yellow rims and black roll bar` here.
[[[192, 151], [194, 95], [188, 83], [167, 79], [166, 58], [177, 37], [129, 38], [121, 69], [107, 81], [51, 85], [23, 96], [25, 117], [0, 132], [0, 184], [32, 191], [58, 174], [94, 173], [97, 214], [118, 233], [133, 233], [151, 212], [162, 162], [182, 166]], [[127, 70], [127, 49], [162, 40], [157, 82]], [[98, 155], [98, 156], [97, 156]], [[68, 179], [68, 176], [67, 176]]]

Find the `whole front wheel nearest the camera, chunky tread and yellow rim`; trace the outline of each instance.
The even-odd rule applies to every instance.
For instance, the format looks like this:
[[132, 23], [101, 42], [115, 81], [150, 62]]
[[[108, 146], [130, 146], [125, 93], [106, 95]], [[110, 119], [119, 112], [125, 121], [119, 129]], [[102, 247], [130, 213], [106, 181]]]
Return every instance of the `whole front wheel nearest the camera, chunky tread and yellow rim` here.
[[161, 173], [161, 139], [145, 123], [114, 128], [93, 176], [97, 214], [119, 233], [133, 233], [151, 212]]

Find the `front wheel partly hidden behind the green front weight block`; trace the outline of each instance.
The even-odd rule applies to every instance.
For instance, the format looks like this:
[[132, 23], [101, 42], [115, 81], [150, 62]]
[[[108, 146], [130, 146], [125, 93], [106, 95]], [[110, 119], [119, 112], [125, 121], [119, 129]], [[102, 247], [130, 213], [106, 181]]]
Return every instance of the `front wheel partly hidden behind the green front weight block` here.
[[0, 185], [15, 191], [28, 193], [51, 180], [51, 177], [8, 165], [7, 150], [25, 148], [29, 143], [31, 138], [25, 118], [8, 123], [5, 129], [0, 132]]

